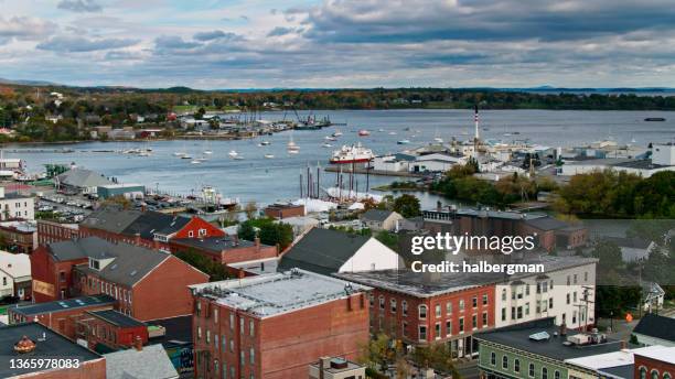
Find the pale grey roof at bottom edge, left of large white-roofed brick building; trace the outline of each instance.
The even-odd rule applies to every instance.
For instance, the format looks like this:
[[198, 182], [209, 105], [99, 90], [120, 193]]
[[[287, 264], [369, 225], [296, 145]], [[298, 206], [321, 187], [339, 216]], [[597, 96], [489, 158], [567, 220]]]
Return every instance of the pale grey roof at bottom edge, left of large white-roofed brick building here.
[[179, 375], [162, 345], [148, 345], [142, 350], [135, 348], [104, 355], [108, 379], [168, 379]]

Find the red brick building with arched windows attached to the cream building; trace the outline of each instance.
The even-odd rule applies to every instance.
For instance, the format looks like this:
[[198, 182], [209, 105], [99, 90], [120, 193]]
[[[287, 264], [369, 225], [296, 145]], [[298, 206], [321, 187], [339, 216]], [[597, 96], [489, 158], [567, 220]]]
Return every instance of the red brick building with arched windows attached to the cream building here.
[[478, 353], [471, 335], [494, 327], [491, 283], [392, 270], [335, 275], [373, 288], [372, 333], [387, 333], [404, 345], [446, 343], [453, 357], [464, 357]]

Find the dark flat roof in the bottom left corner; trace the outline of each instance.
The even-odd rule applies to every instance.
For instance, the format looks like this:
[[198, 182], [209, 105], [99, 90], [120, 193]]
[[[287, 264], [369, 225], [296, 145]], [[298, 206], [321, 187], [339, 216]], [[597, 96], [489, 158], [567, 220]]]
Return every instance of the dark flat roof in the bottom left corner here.
[[[14, 344], [23, 336], [35, 343], [35, 349], [31, 353], [19, 354], [14, 351]], [[43, 336], [45, 338], [43, 338]], [[15, 324], [0, 327], [0, 378], [11, 378], [30, 372], [40, 372], [44, 369], [11, 368], [12, 359], [30, 358], [71, 358], [79, 359], [79, 364], [103, 359], [98, 354], [82, 347], [66, 337], [52, 332], [50, 328], [38, 323]]]

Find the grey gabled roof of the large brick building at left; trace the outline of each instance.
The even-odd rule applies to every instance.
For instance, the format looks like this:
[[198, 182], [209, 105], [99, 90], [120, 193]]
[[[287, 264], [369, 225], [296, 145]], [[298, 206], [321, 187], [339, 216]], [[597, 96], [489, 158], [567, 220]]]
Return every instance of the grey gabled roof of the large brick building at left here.
[[108, 281], [131, 286], [154, 268], [160, 266], [170, 255], [119, 242], [113, 243], [98, 237], [87, 237], [74, 240], [50, 243], [47, 246], [58, 260], [81, 258], [108, 259], [113, 262], [100, 271], [90, 269], [86, 263], [77, 266], [77, 270], [89, 272]]

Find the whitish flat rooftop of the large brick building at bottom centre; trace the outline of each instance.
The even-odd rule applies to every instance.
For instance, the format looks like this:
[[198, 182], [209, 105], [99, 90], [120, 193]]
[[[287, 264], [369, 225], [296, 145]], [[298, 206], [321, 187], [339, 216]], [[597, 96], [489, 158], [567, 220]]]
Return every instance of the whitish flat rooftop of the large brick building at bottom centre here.
[[369, 290], [364, 285], [300, 269], [190, 288], [200, 296], [260, 318], [317, 306]]

